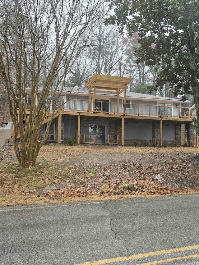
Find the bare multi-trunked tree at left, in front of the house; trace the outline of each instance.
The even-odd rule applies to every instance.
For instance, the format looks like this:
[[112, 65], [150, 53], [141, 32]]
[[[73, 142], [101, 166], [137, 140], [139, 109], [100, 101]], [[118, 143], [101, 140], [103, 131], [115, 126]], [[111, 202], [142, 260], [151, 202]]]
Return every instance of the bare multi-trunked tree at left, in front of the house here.
[[[0, 0], [0, 74], [7, 89], [15, 153], [23, 167], [35, 165], [58, 104], [59, 97], [49, 117], [53, 96], [62, 92], [68, 72], [88, 45], [90, 30], [99, 21], [104, 2]], [[38, 98], [41, 74], [43, 89]], [[31, 102], [25, 97], [27, 85]], [[47, 116], [46, 130], [39, 142], [40, 128]]]

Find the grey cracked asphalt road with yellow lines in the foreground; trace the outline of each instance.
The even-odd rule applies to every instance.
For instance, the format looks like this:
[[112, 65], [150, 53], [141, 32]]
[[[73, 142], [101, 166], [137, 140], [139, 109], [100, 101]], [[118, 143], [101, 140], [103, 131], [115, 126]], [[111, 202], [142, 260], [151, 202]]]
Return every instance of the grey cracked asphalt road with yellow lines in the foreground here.
[[77, 263], [199, 264], [199, 194], [0, 208], [1, 265]]

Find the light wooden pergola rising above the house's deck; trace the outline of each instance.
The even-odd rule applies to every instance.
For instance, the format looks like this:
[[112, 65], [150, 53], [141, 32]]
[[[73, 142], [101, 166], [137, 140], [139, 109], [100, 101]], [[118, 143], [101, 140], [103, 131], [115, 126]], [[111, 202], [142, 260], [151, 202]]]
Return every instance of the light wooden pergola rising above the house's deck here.
[[[124, 92], [124, 106], [126, 106], [127, 85], [131, 80], [133, 78], [94, 74], [86, 84], [89, 92], [89, 101], [91, 102], [91, 93], [93, 93], [93, 101], [95, 101], [96, 93], [113, 94], [117, 95], [117, 102], [119, 104], [119, 95]], [[124, 112], [125, 109], [126, 107], [124, 107]]]

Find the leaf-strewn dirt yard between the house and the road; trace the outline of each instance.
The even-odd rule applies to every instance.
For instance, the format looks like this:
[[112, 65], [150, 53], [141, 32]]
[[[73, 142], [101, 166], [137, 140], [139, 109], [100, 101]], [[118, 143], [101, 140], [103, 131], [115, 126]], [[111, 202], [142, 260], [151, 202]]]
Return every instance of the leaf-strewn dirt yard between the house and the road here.
[[48, 145], [28, 170], [4, 145], [0, 205], [199, 192], [198, 162], [198, 149], [190, 147]]

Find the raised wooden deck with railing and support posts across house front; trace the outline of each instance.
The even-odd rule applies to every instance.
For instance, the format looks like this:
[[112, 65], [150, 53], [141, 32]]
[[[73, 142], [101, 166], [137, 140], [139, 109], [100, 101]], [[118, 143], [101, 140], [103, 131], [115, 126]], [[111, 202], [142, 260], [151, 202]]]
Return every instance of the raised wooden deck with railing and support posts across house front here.
[[[103, 103], [105, 105], [103, 106]], [[125, 106], [126, 105], [126, 106]], [[53, 104], [52, 104], [53, 106]], [[105, 109], [106, 107], [106, 109]], [[30, 113], [29, 109], [25, 109], [26, 115]], [[52, 110], [47, 113], [47, 118], [43, 124], [51, 117]], [[122, 124], [122, 145], [124, 145], [124, 121], [130, 122], [159, 122], [160, 123], [160, 146], [162, 146], [162, 125], [170, 124], [186, 124], [192, 122], [195, 108], [189, 107], [172, 107], [158, 105], [139, 105], [111, 103], [103, 101], [78, 100], [78, 99], [61, 99], [58, 108], [55, 111], [54, 118], [58, 118], [58, 144], [61, 143], [61, 123], [63, 116], [77, 116], [77, 144], [80, 144], [80, 121], [100, 119], [111, 121], [113, 119], [121, 119]], [[25, 128], [24, 128], [25, 132]], [[11, 132], [12, 135], [12, 132]]]

